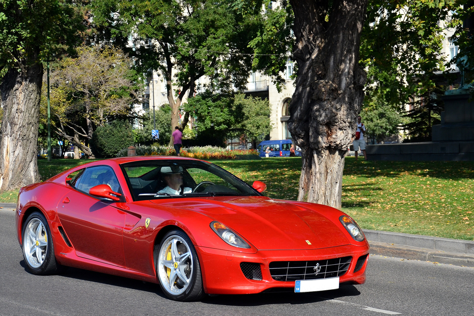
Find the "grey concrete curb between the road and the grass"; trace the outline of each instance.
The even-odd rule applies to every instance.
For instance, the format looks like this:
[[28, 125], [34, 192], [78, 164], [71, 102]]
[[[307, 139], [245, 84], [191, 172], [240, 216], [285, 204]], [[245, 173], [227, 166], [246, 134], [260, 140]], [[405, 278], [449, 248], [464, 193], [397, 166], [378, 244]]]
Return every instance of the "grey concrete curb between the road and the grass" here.
[[[15, 210], [15, 203], [0, 203], [2, 210]], [[474, 241], [364, 229], [370, 253], [474, 267]]]

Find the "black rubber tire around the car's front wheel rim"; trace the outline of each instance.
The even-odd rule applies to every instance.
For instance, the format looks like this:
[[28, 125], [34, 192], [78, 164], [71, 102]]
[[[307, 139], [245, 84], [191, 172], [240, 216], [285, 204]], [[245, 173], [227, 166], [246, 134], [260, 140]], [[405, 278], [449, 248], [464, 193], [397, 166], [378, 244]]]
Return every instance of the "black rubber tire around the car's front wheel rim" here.
[[[189, 283], [185, 289], [183, 289], [182, 293], [179, 294], [172, 294], [170, 293], [169, 290], [165, 289], [164, 283], [166, 280], [163, 280], [160, 277], [160, 271], [159, 271], [159, 256], [160, 256], [160, 251], [164, 247], [165, 242], [171, 238], [172, 236], [178, 236], [180, 237], [183, 241], [186, 242], [187, 248], [189, 249], [189, 252], [191, 253], [191, 258], [189, 261], [191, 262], [191, 271], [190, 274], [191, 276], [189, 277]], [[191, 239], [186, 235], [183, 231], [181, 230], [172, 230], [168, 232], [162, 240], [160, 241], [159, 244], [155, 245], [154, 249], [154, 258], [155, 258], [155, 271], [156, 271], [156, 277], [158, 278], [158, 283], [160, 284], [160, 288], [162, 289], [163, 293], [170, 299], [175, 300], [175, 301], [197, 301], [200, 300], [204, 295], [204, 287], [202, 284], [202, 275], [201, 275], [201, 265], [199, 263], [199, 258], [196, 253], [196, 249], [194, 248]], [[169, 274], [168, 274], [169, 278]], [[165, 278], [166, 279], [166, 278]], [[168, 279], [169, 281], [169, 279]], [[177, 284], [177, 282], [176, 282]]]

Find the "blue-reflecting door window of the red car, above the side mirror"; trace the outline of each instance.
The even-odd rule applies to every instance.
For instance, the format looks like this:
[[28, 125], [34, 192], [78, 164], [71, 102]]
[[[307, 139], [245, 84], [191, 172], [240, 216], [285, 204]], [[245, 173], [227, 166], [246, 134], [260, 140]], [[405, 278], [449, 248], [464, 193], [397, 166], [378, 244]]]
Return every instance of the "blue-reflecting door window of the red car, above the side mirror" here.
[[107, 184], [114, 192], [121, 193], [118, 179], [112, 168], [108, 166], [97, 166], [86, 168], [75, 181], [74, 187], [85, 193], [89, 193], [92, 187], [99, 184]]

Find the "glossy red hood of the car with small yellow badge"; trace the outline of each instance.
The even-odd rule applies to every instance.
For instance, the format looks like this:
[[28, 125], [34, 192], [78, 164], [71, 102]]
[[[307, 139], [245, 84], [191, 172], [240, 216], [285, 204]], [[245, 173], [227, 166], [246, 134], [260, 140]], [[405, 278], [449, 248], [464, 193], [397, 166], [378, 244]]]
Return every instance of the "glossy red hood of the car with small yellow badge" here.
[[228, 226], [259, 250], [319, 249], [349, 244], [344, 233], [327, 217], [291, 201], [259, 196], [152, 202], [204, 214]]

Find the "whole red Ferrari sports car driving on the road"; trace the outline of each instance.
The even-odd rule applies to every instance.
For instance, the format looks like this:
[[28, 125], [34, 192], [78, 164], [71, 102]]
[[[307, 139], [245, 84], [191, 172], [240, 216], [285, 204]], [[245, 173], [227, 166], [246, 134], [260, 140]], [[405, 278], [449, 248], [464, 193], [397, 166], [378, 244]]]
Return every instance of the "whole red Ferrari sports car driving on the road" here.
[[18, 241], [34, 274], [99, 271], [181, 301], [365, 282], [369, 245], [351, 217], [265, 189], [197, 159], [94, 161], [20, 190]]

